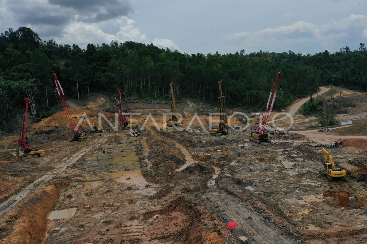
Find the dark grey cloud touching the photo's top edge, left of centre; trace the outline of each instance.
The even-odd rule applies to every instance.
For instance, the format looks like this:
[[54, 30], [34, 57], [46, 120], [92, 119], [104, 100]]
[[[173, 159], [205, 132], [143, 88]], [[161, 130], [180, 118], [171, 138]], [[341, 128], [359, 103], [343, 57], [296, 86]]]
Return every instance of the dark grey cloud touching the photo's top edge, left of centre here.
[[[133, 0], [48, 0], [55, 6], [72, 9], [78, 21], [100, 22], [126, 16], [133, 11]], [[82, 16], [80, 16], [82, 15]]]

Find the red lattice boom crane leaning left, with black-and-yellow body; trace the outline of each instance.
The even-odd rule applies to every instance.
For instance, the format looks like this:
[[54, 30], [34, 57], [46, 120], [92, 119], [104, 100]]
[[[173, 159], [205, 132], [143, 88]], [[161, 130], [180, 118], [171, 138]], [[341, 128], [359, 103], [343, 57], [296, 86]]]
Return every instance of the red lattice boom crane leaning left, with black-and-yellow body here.
[[70, 128], [73, 131], [73, 137], [70, 139], [70, 141], [83, 141], [87, 139], [87, 133], [83, 130], [83, 127], [81, 127], [81, 125], [77, 125], [74, 121], [74, 119], [77, 117], [73, 117], [71, 113], [68, 100], [66, 99], [64, 90], [62, 89], [61, 84], [56, 74], [52, 73], [52, 75], [54, 76], [56, 90], [57, 90], [57, 93], [59, 94], [60, 101], [61, 101], [62, 107], [64, 108], [66, 118], [68, 119]]

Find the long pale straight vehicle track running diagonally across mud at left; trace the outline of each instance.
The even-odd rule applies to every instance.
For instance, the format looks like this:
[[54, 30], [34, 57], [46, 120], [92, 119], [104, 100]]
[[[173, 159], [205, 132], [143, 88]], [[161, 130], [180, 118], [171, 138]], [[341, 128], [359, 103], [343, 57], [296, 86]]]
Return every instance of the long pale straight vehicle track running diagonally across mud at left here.
[[41, 178], [37, 179], [36, 181], [33, 181], [32, 184], [28, 185], [21, 193], [15, 196], [11, 196], [7, 201], [0, 204], [0, 216], [9, 211], [12, 207], [14, 207], [16, 204], [18, 204], [23, 198], [25, 198], [29, 193], [33, 192], [38, 186], [43, 184], [44, 182], [49, 181], [53, 177], [55, 177], [57, 174], [61, 173], [66, 169], [66, 167], [72, 165], [75, 163], [78, 159], [80, 159], [84, 154], [86, 154], [91, 149], [98, 147], [103, 142], [105, 142], [108, 138], [108, 134], [103, 133], [103, 136], [97, 138], [92, 145], [90, 145], [87, 148], [82, 149], [81, 151], [77, 152], [76, 154], [73, 154], [69, 156], [65, 161], [63, 161], [61, 164], [56, 166], [53, 170], [48, 172], [47, 174], [43, 175]]

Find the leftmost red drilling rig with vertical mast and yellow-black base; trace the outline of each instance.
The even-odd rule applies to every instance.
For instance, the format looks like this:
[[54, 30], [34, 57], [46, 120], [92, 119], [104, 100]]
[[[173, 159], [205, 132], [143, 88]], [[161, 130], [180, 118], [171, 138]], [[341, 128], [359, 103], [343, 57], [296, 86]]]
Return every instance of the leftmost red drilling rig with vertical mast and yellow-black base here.
[[22, 119], [23, 127], [22, 130], [19, 132], [19, 139], [18, 139], [18, 150], [17, 150], [17, 158], [19, 157], [19, 151], [22, 151], [24, 154], [23, 156], [37, 156], [39, 157], [41, 154], [45, 152], [45, 149], [33, 149], [28, 144], [28, 139], [26, 136], [26, 127], [27, 127], [27, 117], [28, 117], [28, 103], [31, 101], [28, 97], [24, 98], [25, 100], [25, 111], [24, 117]]

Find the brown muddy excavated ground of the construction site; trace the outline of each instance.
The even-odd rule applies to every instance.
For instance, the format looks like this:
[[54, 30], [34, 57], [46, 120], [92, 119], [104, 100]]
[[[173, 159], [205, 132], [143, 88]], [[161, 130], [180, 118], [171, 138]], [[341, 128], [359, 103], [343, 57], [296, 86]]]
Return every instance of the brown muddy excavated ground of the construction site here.
[[[113, 121], [95, 106], [73, 113], [102, 111]], [[167, 104], [129, 106], [142, 112], [138, 137], [119, 129], [69, 142], [57, 113], [29, 134], [31, 145], [46, 149], [40, 158], [16, 159], [9, 153], [17, 138], [1, 141], [0, 243], [222, 244], [230, 221], [238, 223], [235, 237], [251, 244], [367, 242], [363, 148], [345, 142], [329, 149], [347, 181], [328, 182], [321, 147], [302, 143], [302, 135], [256, 144], [249, 130], [212, 136], [196, 121], [185, 131], [190, 110], [180, 130], [163, 130]], [[158, 128], [152, 120], [143, 127], [154, 108]], [[207, 127], [205, 117], [199, 120]]]

